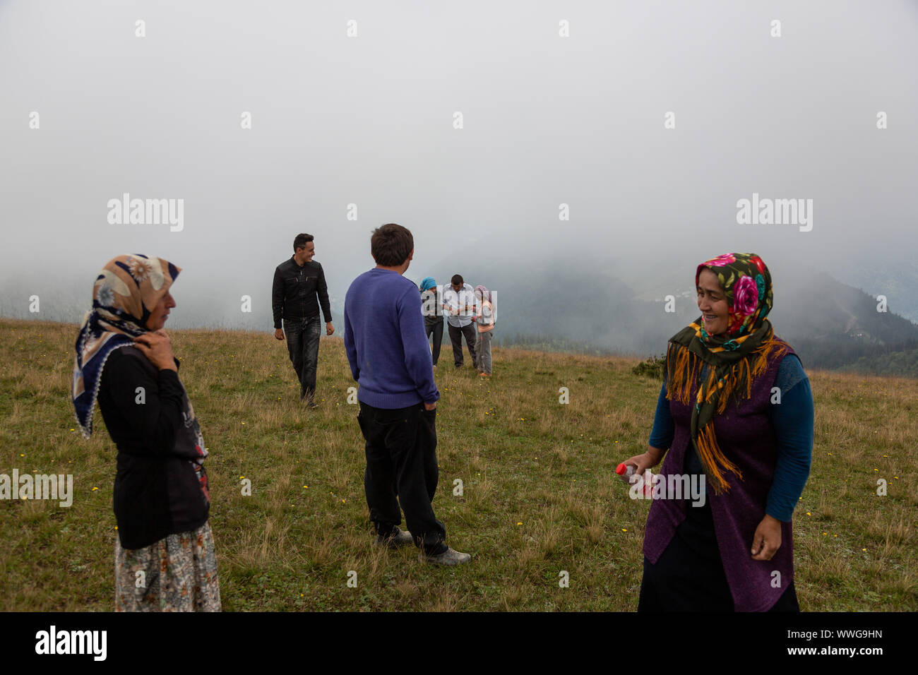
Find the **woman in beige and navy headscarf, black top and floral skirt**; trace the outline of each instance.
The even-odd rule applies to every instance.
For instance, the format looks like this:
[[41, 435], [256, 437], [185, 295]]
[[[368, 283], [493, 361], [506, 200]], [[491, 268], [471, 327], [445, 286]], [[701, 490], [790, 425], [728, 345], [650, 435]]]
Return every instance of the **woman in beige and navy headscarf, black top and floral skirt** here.
[[80, 430], [86, 438], [93, 432], [98, 400], [118, 447], [117, 612], [220, 609], [207, 523], [207, 450], [162, 331], [180, 271], [146, 255], [108, 261], [76, 340], [73, 407]]

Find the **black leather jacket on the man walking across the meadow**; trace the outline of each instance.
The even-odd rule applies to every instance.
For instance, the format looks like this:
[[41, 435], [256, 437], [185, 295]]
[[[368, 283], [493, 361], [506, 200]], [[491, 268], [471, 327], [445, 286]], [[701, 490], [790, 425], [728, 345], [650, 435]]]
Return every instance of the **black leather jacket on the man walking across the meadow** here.
[[289, 260], [277, 265], [271, 295], [275, 329], [281, 327], [282, 319], [285, 323], [296, 323], [318, 316], [319, 303], [325, 322], [331, 321], [329, 288], [325, 285], [322, 265], [315, 260], [300, 267], [291, 255]]

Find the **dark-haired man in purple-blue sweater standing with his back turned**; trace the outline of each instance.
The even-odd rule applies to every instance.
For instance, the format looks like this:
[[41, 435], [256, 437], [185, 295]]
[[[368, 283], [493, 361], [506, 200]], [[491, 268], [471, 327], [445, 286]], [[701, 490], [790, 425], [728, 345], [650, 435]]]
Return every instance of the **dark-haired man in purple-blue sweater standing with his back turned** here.
[[[414, 238], [388, 223], [373, 231], [376, 266], [353, 280], [344, 297], [344, 348], [359, 384], [357, 422], [366, 441], [364, 491], [376, 544], [412, 542], [435, 565], [471, 559], [446, 546], [446, 528], [433, 513], [437, 489], [437, 400], [431, 350], [418, 309], [418, 287], [403, 274]], [[398, 529], [401, 510], [409, 532]]]

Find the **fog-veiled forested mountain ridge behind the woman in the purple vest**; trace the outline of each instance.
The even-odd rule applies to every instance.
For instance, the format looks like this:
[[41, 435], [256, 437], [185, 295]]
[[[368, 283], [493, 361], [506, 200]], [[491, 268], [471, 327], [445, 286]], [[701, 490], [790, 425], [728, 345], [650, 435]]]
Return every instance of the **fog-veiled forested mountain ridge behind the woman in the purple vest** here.
[[[475, 273], [465, 277], [473, 285]], [[609, 272], [536, 266], [525, 279], [497, 268], [487, 277], [492, 292], [499, 289], [495, 338], [502, 345], [663, 354], [668, 339], [700, 315], [693, 288], [639, 293]], [[879, 309], [876, 297], [825, 272], [801, 272], [778, 287], [769, 319], [805, 366], [838, 368], [868, 358], [870, 372], [879, 372], [882, 354], [918, 350], [918, 325], [888, 306]], [[918, 367], [901, 374], [918, 377]]]

